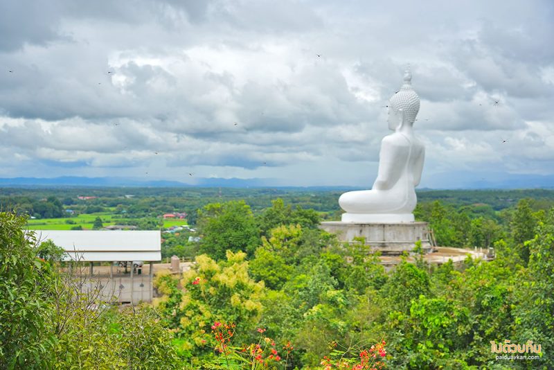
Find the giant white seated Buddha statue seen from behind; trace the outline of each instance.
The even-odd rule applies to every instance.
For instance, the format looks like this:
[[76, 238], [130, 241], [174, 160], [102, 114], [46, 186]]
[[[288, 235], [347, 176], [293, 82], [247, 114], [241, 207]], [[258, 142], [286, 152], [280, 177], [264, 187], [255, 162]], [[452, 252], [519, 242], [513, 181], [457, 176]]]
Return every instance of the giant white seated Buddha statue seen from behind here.
[[404, 73], [404, 85], [388, 103], [388, 128], [393, 130], [381, 141], [379, 172], [371, 190], [349, 191], [339, 198], [346, 211], [342, 222], [413, 222], [425, 147], [413, 134], [413, 122], [420, 98], [411, 87], [411, 73]]

